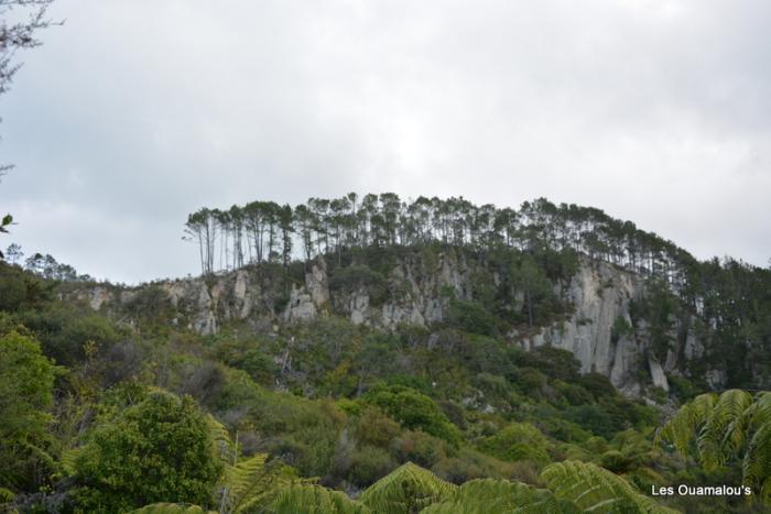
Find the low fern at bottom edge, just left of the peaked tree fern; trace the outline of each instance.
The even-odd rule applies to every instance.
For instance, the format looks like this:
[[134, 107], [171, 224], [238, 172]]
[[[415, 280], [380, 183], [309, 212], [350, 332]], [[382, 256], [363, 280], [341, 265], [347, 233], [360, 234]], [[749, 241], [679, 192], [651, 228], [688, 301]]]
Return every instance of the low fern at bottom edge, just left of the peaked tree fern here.
[[339, 491], [315, 484], [292, 484], [281, 489], [265, 513], [369, 514], [370, 510]]

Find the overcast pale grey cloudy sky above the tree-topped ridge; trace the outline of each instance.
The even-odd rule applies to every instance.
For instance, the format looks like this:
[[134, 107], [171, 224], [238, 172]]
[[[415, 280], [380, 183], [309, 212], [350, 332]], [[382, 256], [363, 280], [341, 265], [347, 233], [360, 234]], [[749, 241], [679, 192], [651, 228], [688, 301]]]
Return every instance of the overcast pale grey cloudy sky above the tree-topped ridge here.
[[[546, 197], [771, 258], [767, 0], [55, 0], [0, 97], [0, 239], [138, 283], [187, 215]], [[4, 212], [3, 212], [4, 214]]]

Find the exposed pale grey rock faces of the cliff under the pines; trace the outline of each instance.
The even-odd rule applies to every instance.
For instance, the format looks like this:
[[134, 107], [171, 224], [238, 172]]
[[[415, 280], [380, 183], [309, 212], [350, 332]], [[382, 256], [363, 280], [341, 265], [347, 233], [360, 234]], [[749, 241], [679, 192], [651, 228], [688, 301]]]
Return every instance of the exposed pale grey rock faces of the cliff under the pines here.
[[[498, 286], [498, 273], [484, 267], [479, 261], [468, 262], [463, 253], [439, 253], [431, 260], [408, 255], [383, 277], [389, 295], [378, 295], [376, 287], [358, 283], [333, 287], [323, 259], [308, 264], [304, 281], [291, 286], [289, 295], [259, 270], [161, 282], [153, 287], [160, 288], [177, 314], [173, 322], [202, 335], [215, 333], [228, 320], [246, 320], [260, 329], [276, 322], [308, 322], [329, 313], [346, 316], [352, 324], [393, 330], [400, 325], [430, 328], [443, 321], [448, 298], [474, 299], [480, 276]], [[665, 361], [652, 357], [647, 324], [633, 322], [630, 314], [630, 304], [644, 294], [641, 278], [632, 273], [583, 259], [575, 276], [554, 287], [573, 306], [572, 314], [547, 327], [512, 330], [507, 336], [512, 345], [524, 349], [552, 345], [567, 350], [580, 361], [582, 372], [601, 373], [630, 395], [640, 394], [645, 383], [669, 390], [665, 373], [681, 373], [684, 361], [698, 359], [705, 351], [693, 330], [680, 327], [685, 337], [673, 335], [672, 340], [680, 342], [669, 350]], [[141, 294], [142, 287], [122, 292], [97, 287], [82, 298], [94, 309], [109, 309], [130, 304]], [[513, 298], [519, 305], [512, 308], [521, 308], [522, 295]], [[619, 330], [619, 326], [628, 329]], [[719, 371], [707, 373], [713, 386], [725, 381]]]

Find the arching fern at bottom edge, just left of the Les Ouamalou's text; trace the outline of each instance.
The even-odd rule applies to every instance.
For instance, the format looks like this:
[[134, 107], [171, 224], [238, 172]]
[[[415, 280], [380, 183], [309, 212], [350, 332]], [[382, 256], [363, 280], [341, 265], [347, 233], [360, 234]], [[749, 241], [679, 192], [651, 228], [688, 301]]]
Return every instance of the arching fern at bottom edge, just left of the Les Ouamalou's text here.
[[588, 462], [567, 460], [550, 464], [541, 479], [556, 497], [574, 503], [584, 512], [676, 512], [640, 494], [621, 477]]

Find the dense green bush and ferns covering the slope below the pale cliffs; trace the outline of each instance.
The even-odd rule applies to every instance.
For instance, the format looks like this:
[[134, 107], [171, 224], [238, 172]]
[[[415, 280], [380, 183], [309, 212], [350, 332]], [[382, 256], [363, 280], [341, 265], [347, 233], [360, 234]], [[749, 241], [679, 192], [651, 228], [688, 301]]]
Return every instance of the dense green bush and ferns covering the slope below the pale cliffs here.
[[[379, 255], [333, 275], [335, 286], [377, 285]], [[449, 297], [452, 315], [432, 329], [383, 332], [330, 313], [261, 330], [231, 321], [204, 337], [171, 324], [152, 287], [126, 304], [126, 322], [74, 299], [77, 284], [2, 263], [0, 273], [13, 293], [0, 314], [10, 510], [759, 512], [768, 501], [768, 395], [723, 407], [746, 413], [736, 423], [678, 415], [654, 441], [658, 407], [579, 374], [568, 352], [501, 339], [495, 294]], [[533, 315], [560, 311], [557, 300], [534, 302]], [[529, 322], [526, 307], [514, 316]], [[686, 379], [678, 391], [699, 392]], [[692, 452], [688, 430], [724, 447]], [[650, 497], [673, 483], [746, 483], [754, 494]]]

